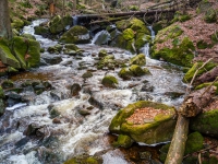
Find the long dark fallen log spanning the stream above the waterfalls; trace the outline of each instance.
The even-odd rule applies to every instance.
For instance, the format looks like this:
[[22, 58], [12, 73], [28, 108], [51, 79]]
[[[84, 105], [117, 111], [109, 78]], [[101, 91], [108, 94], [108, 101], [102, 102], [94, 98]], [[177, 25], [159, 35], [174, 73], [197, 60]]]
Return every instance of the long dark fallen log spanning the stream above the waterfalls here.
[[157, 14], [164, 13], [174, 13], [174, 9], [167, 9], [167, 10], [145, 10], [145, 11], [131, 11], [131, 12], [121, 12], [121, 13], [105, 13], [105, 14], [84, 14], [84, 15], [76, 15], [77, 22], [85, 22], [89, 23], [93, 20], [100, 20], [105, 17], [119, 17], [119, 16], [155, 16]]

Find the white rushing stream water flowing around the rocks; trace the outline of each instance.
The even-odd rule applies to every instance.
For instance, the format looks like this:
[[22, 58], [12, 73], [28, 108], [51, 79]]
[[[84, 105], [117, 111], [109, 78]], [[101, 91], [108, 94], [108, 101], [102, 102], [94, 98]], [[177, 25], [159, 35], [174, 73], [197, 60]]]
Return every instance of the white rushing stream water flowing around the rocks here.
[[[34, 26], [45, 20], [34, 21], [24, 27], [24, 33], [34, 35]], [[76, 22], [75, 22], [76, 23]], [[35, 35], [41, 47], [47, 49], [57, 44], [56, 40]], [[179, 106], [182, 97], [172, 99], [169, 92], [184, 92], [182, 72], [179, 68], [166, 62], [149, 58], [149, 45], [142, 49], [146, 54], [147, 63], [152, 75], [133, 78], [123, 81], [118, 77], [120, 68], [114, 70], [97, 70], [96, 57], [100, 49], [113, 54], [116, 59], [129, 60], [133, 55], [123, 49], [97, 46], [95, 44], [78, 45], [84, 50], [80, 57], [64, 54], [59, 65], [41, 66], [29, 72], [14, 75], [11, 79], [16, 83], [25, 79], [49, 81], [56, 91], [62, 94], [61, 99], [51, 97], [51, 91], [33, 96], [28, 104], [15, 104], [8, 107], [0, 118], [0, 163], [3, 164], [60, 164], [70, 156], [80, 154], [94, 155], [101, 152], [104, 164], [128, 164], [124, 154], [113, 150], [108, 138], [108, 127], [118, 109], [128, 104], [148, 99]], [[41, 54], [41, 58], [49, 56]], [[92, 71], [93, 77], [84, 80], [82, 74]], [[100, 82], [105, 74], [118, 78], [118, 89], [104, 87]], [[78, 83], [83, 86], [80, 96], [71, 97], [69, 86]], [[143, 85], [152, 85], [153, 92], [142, 91]], [[28, 96], [28, 93], [26, 93]], [[29, 95], [31, 96], [31, 95]], [[89, 97], [97, 99], [90, 115], [81, 116], [77, 109], [92, 106]], [[53, 124], [49, 115], [52, 105], [61, 114], [60, 124]], [[20, 124], [17, 128], [17, 122]], [[23, 134], [25, 125], [37, 124], [44, 130], [43, 139], [27, 138]]]

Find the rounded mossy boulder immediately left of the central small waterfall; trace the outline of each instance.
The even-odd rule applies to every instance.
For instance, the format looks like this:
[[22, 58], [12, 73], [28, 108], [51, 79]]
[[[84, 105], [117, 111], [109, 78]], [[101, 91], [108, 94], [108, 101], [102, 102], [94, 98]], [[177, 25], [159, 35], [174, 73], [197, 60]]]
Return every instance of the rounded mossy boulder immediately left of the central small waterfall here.
[[60, 42], [65, 44], [88, 44], [90, 36], [86, 27], [75, 25], [61, 36]]

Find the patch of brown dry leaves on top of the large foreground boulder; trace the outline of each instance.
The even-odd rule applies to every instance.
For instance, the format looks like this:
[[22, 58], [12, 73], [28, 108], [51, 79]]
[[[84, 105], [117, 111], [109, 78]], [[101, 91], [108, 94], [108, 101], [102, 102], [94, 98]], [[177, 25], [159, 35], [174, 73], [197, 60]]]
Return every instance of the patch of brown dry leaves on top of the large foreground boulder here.
[[135, 109], [134, 114], [131, 115], [125, 120], [134, 125], [143, 125], [145, 122], [154, 121], [155, 116], [159, 114], [169, 115], [170, 110], [156, 109], [153, 107], [138, 108], [138, 109]]

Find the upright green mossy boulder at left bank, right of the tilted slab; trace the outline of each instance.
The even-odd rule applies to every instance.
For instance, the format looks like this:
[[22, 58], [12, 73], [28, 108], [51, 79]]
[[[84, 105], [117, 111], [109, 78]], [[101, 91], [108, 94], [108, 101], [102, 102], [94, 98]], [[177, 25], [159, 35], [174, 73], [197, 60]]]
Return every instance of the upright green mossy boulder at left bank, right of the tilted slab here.
[[37, 40], [13, 37], [12, 49], [23, 69], [37, 67], [40, 62], [40, 45]]

